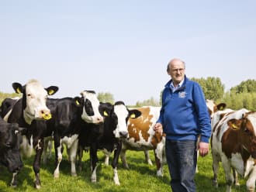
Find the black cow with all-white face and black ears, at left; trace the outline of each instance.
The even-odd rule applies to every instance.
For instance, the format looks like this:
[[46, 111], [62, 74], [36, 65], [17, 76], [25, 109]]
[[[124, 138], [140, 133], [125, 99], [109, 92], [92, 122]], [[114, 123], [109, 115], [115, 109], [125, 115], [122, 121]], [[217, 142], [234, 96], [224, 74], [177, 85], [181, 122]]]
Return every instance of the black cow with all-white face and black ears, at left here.
[[[47, 97], [56, 93], [58, 87], [44, 88], [37, 80], [31, 80], [23, 86], [13, 83], [12, 87], [16, 93], [22, 93], [22, 98], [15, 103], [8, 100], [2, 102], [2, 114], [5, 114], [3, 118], [7, 122], [16, 122], [20, 127], [26, 128], [26, 132], [22, 133], [21, 148], [23, 148], [22, 152], [25, 152], [23, 156], [31, 156], [33, 148], [36, 150], [33, 162], [33, 170], [36, 175], [34, 185], [36, 188], [40, 188], [40, 164], [38, 161], [42, 154], [43, 135], [46, 131], [44, 121], [51, 118], [50, 109], [46, 105]], [[10, 103], [8, 104], [8, 102]], [[9, 106], [9, 108], [5, 108], [5, 106]]]

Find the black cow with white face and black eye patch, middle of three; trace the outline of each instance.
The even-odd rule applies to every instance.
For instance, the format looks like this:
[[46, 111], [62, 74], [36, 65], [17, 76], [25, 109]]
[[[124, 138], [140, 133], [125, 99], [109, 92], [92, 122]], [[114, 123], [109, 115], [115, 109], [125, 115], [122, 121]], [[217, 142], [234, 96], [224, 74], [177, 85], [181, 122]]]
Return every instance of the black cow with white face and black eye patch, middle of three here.
[[75, 161], [78, 150], [78, 134], [84, 122], [99, 124], [103, 117], [99, 113], [99, 100], [95, 91], [82, 91], [81, 98], [61, 98], [55, 100], [53, 119], [47, 127], [54, 131], [55, 170], [54, 178], [60, 175], [62, 146], [67, 147], [68, 159], [71, 161], [71, 175], [76, 176]]

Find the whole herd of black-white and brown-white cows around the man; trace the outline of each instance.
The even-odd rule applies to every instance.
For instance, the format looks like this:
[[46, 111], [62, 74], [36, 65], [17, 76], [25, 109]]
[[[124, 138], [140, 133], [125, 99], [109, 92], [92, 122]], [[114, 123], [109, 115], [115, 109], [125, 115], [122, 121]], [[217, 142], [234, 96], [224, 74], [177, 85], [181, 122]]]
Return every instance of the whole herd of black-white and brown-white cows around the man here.
[[[18, 173], [22, 171], [22, 158], [35, 152], [34, 186], [41, 187], [41, 156], [45, 162], [47, 144], [54, 141], [54, 177], [60, 175], [64, 145], [71, 162], [71, 175], [75, 176], [76, 162], [81, 167], [84, 150], [90, 153], [91, 180], [97, 180], [97, 152], [106, 154], [105, 163], [112, 157], [113, 180], [119, 185], [118, 159], [128, 168], [126, 150], [142, 150], [147, 163], [152, 164], [148, 150], [154, 150], [157, 176], [163, 176], [165, 162], [164, 133], [155, 133], [154, 123], [160, 108], [145, 106], [127, 108], [123, 101], [114, 105], [99, 102], [95, 91], [81, 91], [80, 97], [48, 98], [58, 87], [43, 87], [31, 80], [25, 85], [13, 83], [22, 98], [5, 98], [0, 108], [0, 164], [12, 173], [10, 186], [17, 186]], [[224, 109], [207, 100], [212, 123], [210, 139], [213, 156], [213, 185], [218, 186], [220, 162], [225, 172], [227, 191], [238, 183], [237, 173], [247, 177], [247, 190], [254, 191], [256, 180], [256, 111], [243, 108], [237, 111]]]

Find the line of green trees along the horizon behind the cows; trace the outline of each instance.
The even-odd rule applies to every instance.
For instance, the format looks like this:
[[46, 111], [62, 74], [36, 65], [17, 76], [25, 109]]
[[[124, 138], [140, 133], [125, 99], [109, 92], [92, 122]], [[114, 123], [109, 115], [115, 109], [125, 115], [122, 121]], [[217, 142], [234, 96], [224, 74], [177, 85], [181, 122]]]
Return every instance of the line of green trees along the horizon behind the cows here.
[[[237, 86], [231, 87], [229, 91], [225, 91], [225, 86], [219, 77], [192, 77], [191, 80], [200, 84], [206, 99], [212, 99], [217, 104], [224, 102], [227, 104], [227, 108], [234, 110], [247, 108], [248, 110], [256, 111], [256, 81], [253, 79], [242, 81]], [[4, 98], [15, 97], [21, 97], [21, 94], [2, 93], [0, 91], [0, 104]], [[113, 94], [109, 92], [99, 92], [98, 98], [102, 102], [110, 102], [112, 104], [115, 102]], [[144, 101], [137, 101], [135, 105], [129, 107], [141, 107], [145, 105], [161, 106], [161, 93], [158, 99], [150, 97]]]

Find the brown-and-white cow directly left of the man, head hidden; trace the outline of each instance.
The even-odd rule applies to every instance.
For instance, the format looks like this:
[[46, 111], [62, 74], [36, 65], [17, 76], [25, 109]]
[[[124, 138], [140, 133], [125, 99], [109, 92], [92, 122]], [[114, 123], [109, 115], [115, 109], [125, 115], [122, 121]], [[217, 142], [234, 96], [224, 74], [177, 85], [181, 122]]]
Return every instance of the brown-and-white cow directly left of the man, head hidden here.
[[128, 122], [129, 138], [123, 140], [120, 153], [123, 166], [128, 168], [126, 150], [144, 151], [148, 163], [150, 159], [147, 150], [154, 150], [157, 165], [157, 176], [163, 176], [165, 162], [165, 135], [154, 132], [154, 125], [160, 114], [160, 107], [144, 106], [135, 108], [141, 112], [139, 118], [130, 118]]

